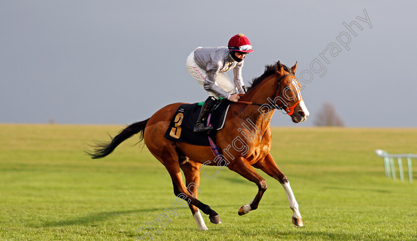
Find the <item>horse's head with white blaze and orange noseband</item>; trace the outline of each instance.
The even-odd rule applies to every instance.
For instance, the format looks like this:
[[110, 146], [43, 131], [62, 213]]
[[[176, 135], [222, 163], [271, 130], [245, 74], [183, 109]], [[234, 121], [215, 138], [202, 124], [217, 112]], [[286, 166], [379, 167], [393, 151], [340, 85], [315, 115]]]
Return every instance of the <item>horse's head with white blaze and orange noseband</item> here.
[[278, 74], [278, 84], [275, 90], [275, 96], [279, 96], [280, 107], [291, 116], [294, 123], [305, 121], [310, 114], [301, 97], [301, 85], [295, 78], [297, 62], [288, 69], [278, 61], [276, 72]]

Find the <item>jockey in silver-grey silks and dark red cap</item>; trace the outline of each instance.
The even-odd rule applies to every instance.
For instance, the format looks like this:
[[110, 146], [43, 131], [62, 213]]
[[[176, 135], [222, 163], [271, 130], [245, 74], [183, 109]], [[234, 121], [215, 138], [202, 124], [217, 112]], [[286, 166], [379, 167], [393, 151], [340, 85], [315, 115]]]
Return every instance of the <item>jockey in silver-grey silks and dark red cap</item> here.
[[[245, 92], [242, 79], [243, 59], [253, 52], [249, 39], [243, 34], [234, 35], [228, 47], [198, 47], [187, 58], [188, 72], [204, 87], [209, 98], [204, 102], [199, 119], [194, 126], [194, 132], [209, 131], [206, 121], [211, 109], [219, 97], [230, 101], [237, 101], [236, 94]], [[233, 69], [234, 80], [226, 75], [226, 71]]]

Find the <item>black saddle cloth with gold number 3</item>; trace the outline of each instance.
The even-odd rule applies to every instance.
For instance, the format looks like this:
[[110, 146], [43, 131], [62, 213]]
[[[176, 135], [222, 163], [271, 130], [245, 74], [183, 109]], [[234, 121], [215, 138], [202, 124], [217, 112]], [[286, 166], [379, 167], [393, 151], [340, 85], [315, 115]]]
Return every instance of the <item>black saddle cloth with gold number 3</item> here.
[[202, 106], [199, 103], [180, 105], [171, 119], [165, 138], [196, 146], [210, 146], [208, 135], [215, 143], [216, 131], [223, 127], [230, 103], [231, 101], [222, 99], [214, 106], [210, 117], [213, 129], [209, 134], [207, 132], [194, 133], [194, 125]]

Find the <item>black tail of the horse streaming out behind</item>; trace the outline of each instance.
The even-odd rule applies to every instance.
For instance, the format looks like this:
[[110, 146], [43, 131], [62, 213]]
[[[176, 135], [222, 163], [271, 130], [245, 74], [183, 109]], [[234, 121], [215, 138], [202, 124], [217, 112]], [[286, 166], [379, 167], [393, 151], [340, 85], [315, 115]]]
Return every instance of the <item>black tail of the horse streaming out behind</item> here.
[[85, 153], [90, 155], [92, 159], [99, 159], [104, 158], [116, 149], [117, 146], [120, 145], [126, 139], [132, 137], [135, 134], [139, 135], [139, 142], [143, 140], [143, 133], [145, 131], [146, 123], [149, 119], [144, 121], [139, 121], [133, 123], [132, 125], [123, 129], [119, 134], [117, 134], [114, 138], [110, 137], [112, 140], [111, 142], [96, 142], [96, 145], [93, 147], [95, 148], [93, 152], [86, 151]]

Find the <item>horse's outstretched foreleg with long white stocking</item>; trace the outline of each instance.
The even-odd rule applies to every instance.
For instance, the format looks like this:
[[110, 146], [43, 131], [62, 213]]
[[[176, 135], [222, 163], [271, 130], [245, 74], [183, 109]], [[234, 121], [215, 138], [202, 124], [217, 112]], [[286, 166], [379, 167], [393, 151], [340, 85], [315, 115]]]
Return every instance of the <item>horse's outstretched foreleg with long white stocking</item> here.
[[258, 161], [254, 164], [256, 168], [263, 170], [268, 175], [274, 177], [281, 183], [282, 187], [285, 190], [285, 194], [288, 198], [289, 207], [291, 208], [292, 214], [292, 223], [298, 227], [302, 227], [303, 221], [301, 219], [301, 214], [298, 211], [298, 203], [295, 200], [294, 193], [292, 192], [291, 186], [289, 185], [288, 178], [278, 169], [277, 164], [272, 158], [271, 154], [268, 154], [263, 160]]

